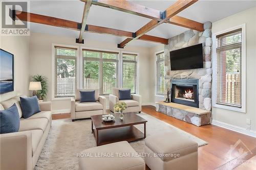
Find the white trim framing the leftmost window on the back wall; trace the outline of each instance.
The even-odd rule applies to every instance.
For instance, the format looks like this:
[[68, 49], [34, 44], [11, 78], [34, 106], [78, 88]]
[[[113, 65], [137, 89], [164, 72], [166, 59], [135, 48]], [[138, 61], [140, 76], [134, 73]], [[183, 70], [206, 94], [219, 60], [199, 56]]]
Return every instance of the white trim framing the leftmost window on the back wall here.
[[79, 58], [80, 58], [80, 53], [79, 53], [79, 46], [74, 46], [74, 45], [64, 45], [64, 44], [55, 44], [52, 43], [52, 101], [60, 101], [60, 100], [70, 100], [72, 97], [61, 97], [61, 98], [55, 98], [54, 96], [54, 83], [55, 83], [55, 47], [54, 46], [62, 46], [62, 47], [71, 47], [71, 48], [77, 48], [77, 59], [76, 59], [76, 86], [79, 86], [79, 78], [80, 78], [80, 69], [79, 69]]

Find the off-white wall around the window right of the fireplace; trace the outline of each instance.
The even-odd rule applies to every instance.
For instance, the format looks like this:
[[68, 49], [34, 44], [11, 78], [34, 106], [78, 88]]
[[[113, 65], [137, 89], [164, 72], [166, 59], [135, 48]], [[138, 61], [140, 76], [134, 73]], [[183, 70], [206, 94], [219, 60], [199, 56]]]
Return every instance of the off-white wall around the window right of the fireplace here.
[[248, 133], [256, 135], [256, 7], [212, 23], [212, 33], [246, 23], [246, 113], [212, 108], [213, 123], [224, 123], [234, 129], [246, 131], [246, 119], [251, 120]]

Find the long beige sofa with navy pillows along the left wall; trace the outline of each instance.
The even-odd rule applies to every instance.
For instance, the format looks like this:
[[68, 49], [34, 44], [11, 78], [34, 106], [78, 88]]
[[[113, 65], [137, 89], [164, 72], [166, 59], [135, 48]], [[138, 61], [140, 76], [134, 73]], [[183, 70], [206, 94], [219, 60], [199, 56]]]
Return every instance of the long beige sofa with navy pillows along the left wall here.
[[33, 169], [51, 128], [51, 102], [39, 102], [41, 112], [26, 119], [22, 117], [19, 96], [2, 102], [0, 110], [7, 109], [14, 103], [20, 116], [19, 132], [0, 135], [0, 169]]

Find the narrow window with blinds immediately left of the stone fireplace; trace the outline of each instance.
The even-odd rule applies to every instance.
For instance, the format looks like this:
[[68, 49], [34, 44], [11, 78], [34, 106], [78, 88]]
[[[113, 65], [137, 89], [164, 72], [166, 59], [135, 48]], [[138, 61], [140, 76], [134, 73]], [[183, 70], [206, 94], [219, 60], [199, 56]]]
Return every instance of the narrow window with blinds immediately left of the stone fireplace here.
[[156, 94], [164, 95], [164, 52], [156, 54]]

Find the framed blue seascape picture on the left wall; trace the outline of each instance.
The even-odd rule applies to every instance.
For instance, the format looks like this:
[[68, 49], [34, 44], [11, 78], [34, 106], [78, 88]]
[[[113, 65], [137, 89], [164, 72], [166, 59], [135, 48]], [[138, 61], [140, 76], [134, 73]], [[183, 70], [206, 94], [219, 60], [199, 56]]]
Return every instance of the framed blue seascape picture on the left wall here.
[[0, 94], [13, 91], [13, 54], [0, 49]]

